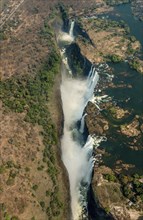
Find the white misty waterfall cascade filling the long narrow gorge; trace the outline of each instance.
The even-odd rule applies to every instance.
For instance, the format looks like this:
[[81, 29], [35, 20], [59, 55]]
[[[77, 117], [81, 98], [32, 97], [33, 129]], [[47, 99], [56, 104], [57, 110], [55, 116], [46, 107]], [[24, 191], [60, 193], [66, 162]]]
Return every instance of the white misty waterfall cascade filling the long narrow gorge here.
[[[71, 23], [69, 36], [73, 37], [74, 22]], [[65, 40], [63, 34], [62, 40]], [[63, 59], [65, 59], [63, 55]], [[94, 139], [89, 135], [83, 144], [80, 138], [84, 131], [84, 109], [92, 98], [98, 81], [98, 73], [91, 67], [86, 79], [75, 79], [71, 76], [65, 62], [62, 65], [61, 98], [64, 113], [64, 130], [61, 139], [62, 160], [69, 174], [72, 220], [83, 217], [87, 209], [87, 191], [95, 159], [92, 156]], [[81, 120], [78, 128], [77, 122]], [[76, 133], [76, 139], [74, 134]], [[87, 214], [87, 213], [86, 213]]]

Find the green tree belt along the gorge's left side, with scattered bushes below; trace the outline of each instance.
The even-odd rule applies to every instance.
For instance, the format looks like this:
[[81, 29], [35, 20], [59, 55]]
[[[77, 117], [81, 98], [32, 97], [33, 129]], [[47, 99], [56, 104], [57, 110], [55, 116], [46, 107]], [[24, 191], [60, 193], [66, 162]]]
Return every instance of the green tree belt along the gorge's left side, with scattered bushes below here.
[[[53, 147], [57, 144], [57, 132], [51, 120], [48, 111], [48, 101], [51, 96], [52, 87], [56, 74], [59, 73], [61, 59], [57, 47], [53, 40], [54, 34], [50, 26], [45, 22], [44, 27], [39, 32], [41, 38], [47, 39], [49, 45], [49, 56], [45, 60], [41, 69], [35, 75], [12, 76], [5, 81], [0, 82], [0, 98], [3, 101], [7, 111], [12, 110], [17, 113], [25, 113], [24, 120], [42, 126], [43, 144], [43, 162], [37, 169], [47, 171], [53, 183], [53, 195], [50, 196], [49, 216], [57, 216], [60, 214], [62, 203], [60, 202], [60, 193], [56, 190], [58, 168], [55, 163], [55, 151]], [[13, 167], [10, 161], [7, 168]], [[46, 168], [47, 166], [47, 168]], [[25, 168], [26, 172], [29, 168]], [[0, 167], [0, 173], [4, 172], [4, 167]], [[15, 175], [11, 173], [7, 180], [8, 185], [14, 184]], [[38, 186], [34, 185], [33, 190], [37, 190]], [[44, 201], [40, 202], [42, 208], [46, 206]], [[46, 207], [45, 207], [46, 210]], [[7, 217], [8, 219], [8, 217]]]

